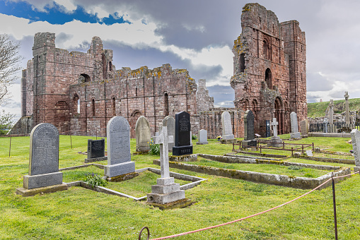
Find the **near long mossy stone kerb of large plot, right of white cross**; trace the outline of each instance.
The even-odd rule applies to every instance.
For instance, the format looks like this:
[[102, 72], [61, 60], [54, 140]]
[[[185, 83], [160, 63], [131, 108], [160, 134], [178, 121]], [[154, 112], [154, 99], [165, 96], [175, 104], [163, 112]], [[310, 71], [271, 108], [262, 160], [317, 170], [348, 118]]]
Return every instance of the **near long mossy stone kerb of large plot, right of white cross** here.
[[[160, 165], [159, 160], [153, 160], [153, 164]], [[240, 171], [234, 169], [222, 169], [217, 167], [205, 167], [197, 166], [193, 164], [186, 164], [180, 162], [169, 162], [169, 166], [176, 169], [187, 170], [191, 172], [198, 172], [201, 174], [209, 174], [215, 176], [224, 176], [231, 179], [242, 179], [245, 181], [253, 181], [255, 183], [261, 184], [272, 184], [277, 186], [287, 186], [291, 188], [301, 188], [301, 189], [313, 189], [320, 184], [323, 184], [327, 179], [331, 178], [331, 173], [320, 176], [316, 179], [310, 179], [306, 177], [297, 177], [297, 176], [286, 176], [279, 174], [265, 174], [261, 172], [250, 172], [250, 171]], [[349, 167], [341, 167], [337, 171], [333, 172], [334, 176], [344, 176], [351, 173]], [[343, 179], [335, 179], [335, 181], [342, 181]], [[321, 186], [320, 189], [326, 188], [331, 185], [331, 181], [327, 184]]]

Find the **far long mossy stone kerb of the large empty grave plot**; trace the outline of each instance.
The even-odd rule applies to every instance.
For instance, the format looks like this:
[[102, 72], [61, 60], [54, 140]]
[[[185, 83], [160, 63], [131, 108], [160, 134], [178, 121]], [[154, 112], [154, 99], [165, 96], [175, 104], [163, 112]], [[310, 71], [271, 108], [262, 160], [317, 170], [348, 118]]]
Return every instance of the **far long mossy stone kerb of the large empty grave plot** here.
[[300, 162], [282, 162], [274, 159], [249, 158], [248, 156], [237, 156], [237, 155], [218, 156], [218, 155], [199, 154], [199, 157], [204, 157], [205, 159], [213, 160], [216, 162], [226, 162], [226, 163], [274, 164], [274, 165], [282, 165], [282, 166], [305, 167], [305, 168], [320, 169], [320, 170], [340, 169], [340, 167], [327, 166], [327, 165], [306, 164]]

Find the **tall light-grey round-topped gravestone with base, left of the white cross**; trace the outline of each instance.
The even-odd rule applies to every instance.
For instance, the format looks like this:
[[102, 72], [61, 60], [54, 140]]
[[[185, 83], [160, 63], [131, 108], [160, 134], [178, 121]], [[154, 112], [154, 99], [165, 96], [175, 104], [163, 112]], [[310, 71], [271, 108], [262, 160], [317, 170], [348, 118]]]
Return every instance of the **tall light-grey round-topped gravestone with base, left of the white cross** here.
[[114, 116], [106, 127], [108, 136], [108, 165], [105, 176], [113, 177], [135, 172], [135, 162], [131, 160], [130, 125], [122, 116]]

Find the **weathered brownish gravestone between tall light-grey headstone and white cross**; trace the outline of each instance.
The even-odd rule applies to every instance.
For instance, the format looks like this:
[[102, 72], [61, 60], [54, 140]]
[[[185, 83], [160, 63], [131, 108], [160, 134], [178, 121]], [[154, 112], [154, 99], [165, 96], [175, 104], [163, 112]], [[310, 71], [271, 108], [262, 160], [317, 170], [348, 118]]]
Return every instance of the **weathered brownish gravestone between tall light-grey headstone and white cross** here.
[[149, 142], [151, 140], [151, 132], [149, 121], [145, 116], [140, 116], [135, 124], [135, 134], [137, 136], [137, 152], [149, 152]]

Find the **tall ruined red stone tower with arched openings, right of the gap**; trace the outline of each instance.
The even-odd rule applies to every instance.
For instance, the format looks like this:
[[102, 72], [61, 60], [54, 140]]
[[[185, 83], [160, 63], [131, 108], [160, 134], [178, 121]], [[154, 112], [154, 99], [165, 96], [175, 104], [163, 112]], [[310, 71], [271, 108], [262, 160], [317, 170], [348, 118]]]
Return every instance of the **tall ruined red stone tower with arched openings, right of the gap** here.
[[[265, 136], [265, 121], [273, 117], [279, 121], [279, 134], [289, 133], [290, 112], [298, 110], [300, 120], [306, 114], [303, 110], [306, 109], [306, 78], [290, 81], [294, 72], [290, 62], [298, 61], [289, 55], [291, 52], [286, 52], [289, 48], [289, 41], [286, 39], [285, 44], [283, 38], [286, 30], [282, 29], [277, 16], [260, 4], [244, 6], [241, 27], [241, 35], [234, 41], [234, 75], [230, 81], [235, 90], [235, 107], [243, 111], [252, 110], [255, 132], [262, 136]], [[299, 61], [303, 68], [296, 71], [297, 76], [301, 73], [305, 76], [305, 61]], [[298, 90], [294, 92], [294, 88]]]

